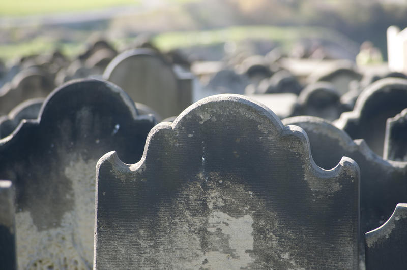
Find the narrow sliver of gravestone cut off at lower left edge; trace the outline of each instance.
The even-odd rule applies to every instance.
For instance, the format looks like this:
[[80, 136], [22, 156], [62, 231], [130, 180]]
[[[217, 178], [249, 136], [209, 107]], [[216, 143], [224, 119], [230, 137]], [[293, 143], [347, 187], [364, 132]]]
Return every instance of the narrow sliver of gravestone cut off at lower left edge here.
[[14, 188], [9, 180], [0, 180], [0, 269], [17, 269]]

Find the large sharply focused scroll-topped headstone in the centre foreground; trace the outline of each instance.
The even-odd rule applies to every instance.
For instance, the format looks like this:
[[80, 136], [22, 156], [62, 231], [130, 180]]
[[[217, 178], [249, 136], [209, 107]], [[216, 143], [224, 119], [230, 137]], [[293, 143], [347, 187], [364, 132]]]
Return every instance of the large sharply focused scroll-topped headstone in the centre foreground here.
[[[96, 269], [358, 269], [359, 168], [313, 162], [305, 132], [233, 94], [97, 165]], [[312, 248], [310, 248], [312, 247]]]

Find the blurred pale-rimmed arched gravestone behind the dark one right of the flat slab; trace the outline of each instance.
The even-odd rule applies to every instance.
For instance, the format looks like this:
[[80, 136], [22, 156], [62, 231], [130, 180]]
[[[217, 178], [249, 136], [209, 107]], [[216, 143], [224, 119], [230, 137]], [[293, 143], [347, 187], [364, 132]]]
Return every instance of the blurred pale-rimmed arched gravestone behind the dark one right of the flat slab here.
[[330, 82], [341, 95], [349, 91], [349, 83], [351, 81], [362, 79], [362, 75], [357, 72], [352, 64], [340, 64], [335, 66], [332, 70], [327, 70], [320, 75], [311, 75], [311, 82]]

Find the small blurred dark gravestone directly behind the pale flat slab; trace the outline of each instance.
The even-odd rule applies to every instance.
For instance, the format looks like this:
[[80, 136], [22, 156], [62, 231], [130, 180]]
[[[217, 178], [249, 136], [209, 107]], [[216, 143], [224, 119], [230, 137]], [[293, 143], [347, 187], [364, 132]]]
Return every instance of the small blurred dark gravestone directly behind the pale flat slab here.
[[264, 79], [257, 87], [259, 94], [271, 93], [294, 93], [300, 94], [302, 86], [294, 75], [282, 70], [273, 74], [268, 79]]

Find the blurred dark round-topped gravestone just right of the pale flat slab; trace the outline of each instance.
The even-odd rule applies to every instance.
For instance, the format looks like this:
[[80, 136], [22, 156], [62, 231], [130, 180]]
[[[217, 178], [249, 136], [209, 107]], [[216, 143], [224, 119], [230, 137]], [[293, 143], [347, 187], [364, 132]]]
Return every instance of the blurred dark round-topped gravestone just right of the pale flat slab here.
[[327, 82], [310, 84], [301, 91], [293, 115], [311, 115], [335, 120], [343, 112], [340, 94]]

